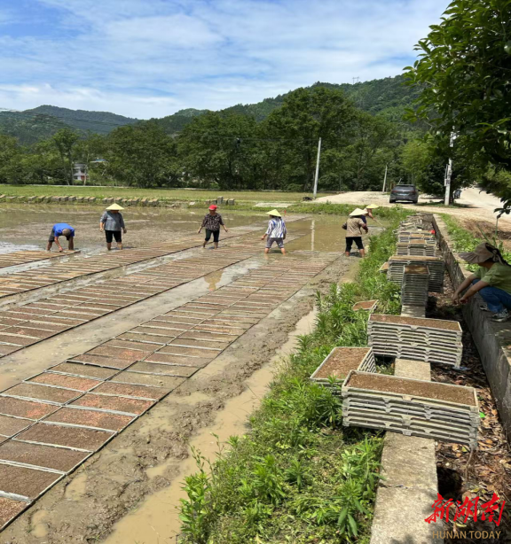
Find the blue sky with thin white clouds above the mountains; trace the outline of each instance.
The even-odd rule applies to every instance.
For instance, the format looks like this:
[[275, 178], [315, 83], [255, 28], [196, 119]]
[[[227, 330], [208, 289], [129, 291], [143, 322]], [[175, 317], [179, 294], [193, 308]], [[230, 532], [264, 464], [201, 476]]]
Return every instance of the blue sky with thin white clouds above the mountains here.
[[448, 0], [3, 0], [0, 108], [146, 119], [400, 74]]

